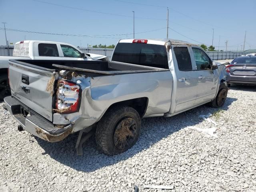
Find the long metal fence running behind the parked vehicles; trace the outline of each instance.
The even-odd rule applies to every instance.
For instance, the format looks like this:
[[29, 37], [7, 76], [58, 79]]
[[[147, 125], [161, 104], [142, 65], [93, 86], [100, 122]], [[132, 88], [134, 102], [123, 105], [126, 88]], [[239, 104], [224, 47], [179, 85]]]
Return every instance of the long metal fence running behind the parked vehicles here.
[[[9, 46], [9, 53], [12, 56], [14, 46]], [[93, 53], [99, 55], [105, 55], [111, 58], [114, 49], [110, 48], [79, 48], [84, 53]], [[234, 59], [238, 56], [242, 56], [248, 53], [245, 52], [230, 52], [230, 51], [207, 51], [208, 55], [212, 60], [224, 60], [224, 59]], [[0, 56], [8, 56], [8, 49], [6, 46], [0, 45]]]

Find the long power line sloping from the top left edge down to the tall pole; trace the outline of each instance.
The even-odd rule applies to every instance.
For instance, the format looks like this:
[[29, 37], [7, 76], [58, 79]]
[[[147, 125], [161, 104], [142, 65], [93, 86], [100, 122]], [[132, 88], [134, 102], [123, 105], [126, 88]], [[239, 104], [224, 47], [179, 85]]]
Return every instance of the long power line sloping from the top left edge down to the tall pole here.
[[[54, 6], [60, 6], [60, 7], [70, 8], [70, 9], [81, 10], [81, 11], [87, 11], [87, 12], [93, 12], [93, 13], [100, 13], [100, 14], [106, 14], [106, 15], [112, 15], [112, 16], [121, 16], [121, 17], [133, 18], [132, 16], [128, 16], [128, 15], [120, 15], [120, 14], [114, 14], [114, 13], [93, 11], [93, 10], [88, 10], [88, 9], [82, 9], [82, 8], [70, 7], [70, 6], [65, 6], [65, 5], [55, 4], [55, 3], [49, 3], [49, 2], [40, 1], [40, 0], [32, 0], [32, 1], [40, 2], [40, 3], [45, 3], [45, 4], [50, 4], [50, 5], [54, 5]], [[159, 19], [159, 18], [146, 18], [146, 17], [136, 17], [136, 18], [138, 18], [138, 19], [151, 19], [151, 20], [165, 20], [165, 19]]]

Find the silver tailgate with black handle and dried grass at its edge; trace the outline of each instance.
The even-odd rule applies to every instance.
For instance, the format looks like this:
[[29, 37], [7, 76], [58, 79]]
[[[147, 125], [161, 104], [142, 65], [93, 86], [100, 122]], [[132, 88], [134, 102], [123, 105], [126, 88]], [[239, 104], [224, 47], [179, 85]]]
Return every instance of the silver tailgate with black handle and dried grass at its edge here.
[[54, 70], [14, 60], [9, 65], [12, 96], [52, 121]]

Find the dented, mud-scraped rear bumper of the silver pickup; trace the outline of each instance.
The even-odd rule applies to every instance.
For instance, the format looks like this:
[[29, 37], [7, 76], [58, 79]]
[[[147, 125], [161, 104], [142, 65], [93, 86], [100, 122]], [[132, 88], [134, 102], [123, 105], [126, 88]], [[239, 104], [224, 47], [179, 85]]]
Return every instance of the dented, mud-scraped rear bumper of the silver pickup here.
[[[58, 128], [12, 96], [5, 97], [4, 102], [10, 114], [24, 130], [43, 140], [58, 142], [66, 138], [72, 132], [72, 124]], [[28, 109], [30, 116], [24, 116], [21, 112], [21, 108]]]

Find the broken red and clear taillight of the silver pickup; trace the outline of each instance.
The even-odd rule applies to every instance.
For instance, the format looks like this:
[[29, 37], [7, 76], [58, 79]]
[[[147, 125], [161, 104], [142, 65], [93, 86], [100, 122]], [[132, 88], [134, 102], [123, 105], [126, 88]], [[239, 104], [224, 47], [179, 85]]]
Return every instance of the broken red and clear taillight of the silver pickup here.
[[59, 113], [78, 112], [80, 104], [80, 86], [61, 80], [58, 84], [56, 111]]

